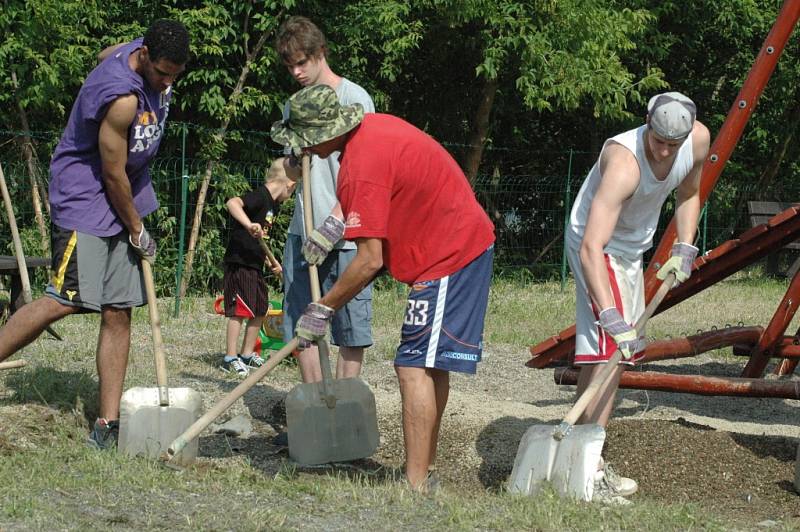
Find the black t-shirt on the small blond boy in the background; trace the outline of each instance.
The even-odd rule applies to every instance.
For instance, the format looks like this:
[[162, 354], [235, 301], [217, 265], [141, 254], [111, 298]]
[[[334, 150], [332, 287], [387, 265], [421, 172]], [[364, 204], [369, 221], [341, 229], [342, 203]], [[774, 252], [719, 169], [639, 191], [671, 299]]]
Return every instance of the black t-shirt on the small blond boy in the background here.
[[[241, 196], [244, 212], [253, 221], [261, 224], [265, 231], [269, 230], [272, 220], [277, 214], [278, 204], [272, 199], [267, 187], [258, 185]], [[225, 249], [225, 263], [241, 264], [263, 271], [266, 256], [261, 250], [258, 239], [253, 238], [247, 229], [228, 214], [228, 247]]]

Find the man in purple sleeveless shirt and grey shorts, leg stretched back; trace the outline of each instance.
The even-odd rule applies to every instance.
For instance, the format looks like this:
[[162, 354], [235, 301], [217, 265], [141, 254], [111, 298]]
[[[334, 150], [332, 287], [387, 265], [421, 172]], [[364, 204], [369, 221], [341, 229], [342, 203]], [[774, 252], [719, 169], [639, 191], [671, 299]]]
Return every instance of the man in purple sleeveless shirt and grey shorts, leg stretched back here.
[[53, 276], [46, 295], [0, 329], [0, 361], [69, 314], [99, 312], [99, 417], [88, 443], [116, 446], [130, 350], [131, 308], [147, 296], [141, 260], [155, 241], [142, 218], [158, 207], [149, 163], [158, 151], [172, 83], [189, 58], [179, 22], [158, 20], [144, 35], [98, 55], [50, 163]]

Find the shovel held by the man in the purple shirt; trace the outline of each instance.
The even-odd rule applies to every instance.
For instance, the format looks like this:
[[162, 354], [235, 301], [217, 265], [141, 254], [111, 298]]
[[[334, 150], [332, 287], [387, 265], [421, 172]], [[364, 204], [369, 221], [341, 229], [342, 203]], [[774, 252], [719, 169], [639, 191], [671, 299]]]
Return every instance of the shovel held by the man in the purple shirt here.
[[[190, 388], [167, 386], [167, 363], [161, 339], [156, 290], [150, 263], [142, 259], [147, 308], [153, 335], [158, 388], [131, 388], [122, 395], [120, 404], [119, 450], [129, 455], [158, 458], [176, 436], [186, 430], [200, 415], [200, 394]], [[188, 465], [197, 456], [197, 440], [184, 449], [177, 465]]]

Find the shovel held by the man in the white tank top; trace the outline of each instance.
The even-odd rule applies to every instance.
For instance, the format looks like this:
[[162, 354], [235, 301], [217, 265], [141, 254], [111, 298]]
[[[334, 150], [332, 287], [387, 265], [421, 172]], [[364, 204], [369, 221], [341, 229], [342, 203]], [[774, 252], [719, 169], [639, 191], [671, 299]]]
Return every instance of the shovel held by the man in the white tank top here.
[[[674, 284], [675, 275], [670, 274], [636, 322], [637, 334]], [[622, 352], [617, 349], [558, 426], [533, 425], [525, 432], [514, 459], [508, 491], [534, 495], [549, 481], [562, 497], [592, 500], [606, 431], [596, 423], [575, 426], [575, 422], [611, 378], [621, 359]]]

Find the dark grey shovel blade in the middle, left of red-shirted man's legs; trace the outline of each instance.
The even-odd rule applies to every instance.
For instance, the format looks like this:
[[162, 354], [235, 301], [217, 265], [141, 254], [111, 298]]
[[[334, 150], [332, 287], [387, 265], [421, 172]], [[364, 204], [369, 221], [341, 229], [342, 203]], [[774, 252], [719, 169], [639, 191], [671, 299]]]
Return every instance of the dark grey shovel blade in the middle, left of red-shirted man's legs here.
[[375, 396], [360, 379], [330, 381], [336, 406], [323, 399], [322, 383], [299, 384], [286, 396], [289, 456], [302, 465], [348, 462], [378, 448]]

